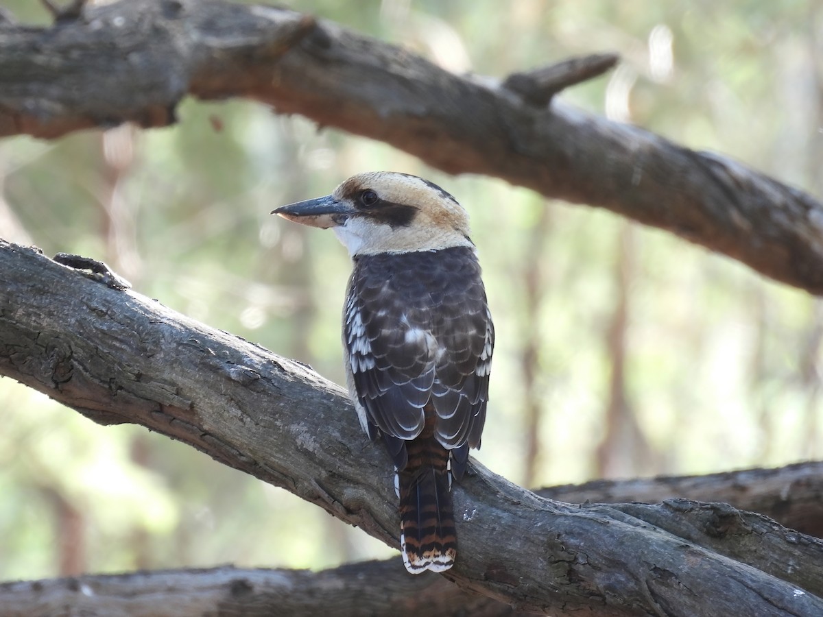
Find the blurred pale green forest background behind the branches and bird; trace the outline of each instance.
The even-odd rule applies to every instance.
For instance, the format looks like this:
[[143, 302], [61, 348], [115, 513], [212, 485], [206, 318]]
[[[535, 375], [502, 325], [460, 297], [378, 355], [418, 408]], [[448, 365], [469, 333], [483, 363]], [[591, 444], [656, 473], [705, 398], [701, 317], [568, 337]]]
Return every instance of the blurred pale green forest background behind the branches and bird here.
[[[33, 0], [0, 6], [50, 21]], [[821, 2], [291, 7], [453, 72], [615, 51], [615, 71], [561, 98], [823, 194]], [[0, 236], [103, 259], [142, 294], [343, 383], [345, 249], [269, 211], [368, 169], [418, 174], [472, 216], [498, 332], [477, 454], [492, 471], [538, 486], [823, 457], [823, 304], [807, 293], [606, 211], [449, 177], [260, 104], [189, 100], [179, 119], [0, 141]], [[285, 490], [10, 379], [0, 426], [0, 579], [392, 553]]]

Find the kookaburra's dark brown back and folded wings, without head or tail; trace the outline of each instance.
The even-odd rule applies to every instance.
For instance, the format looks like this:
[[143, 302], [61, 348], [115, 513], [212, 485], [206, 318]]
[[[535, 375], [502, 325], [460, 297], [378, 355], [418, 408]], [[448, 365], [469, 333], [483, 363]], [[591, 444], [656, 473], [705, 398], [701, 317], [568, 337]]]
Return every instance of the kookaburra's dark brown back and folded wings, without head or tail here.
[[431, 401], [436, 438], [464, 463], [480, 443], [494, 346], [470, 249], [361, 257], [344, 318], [356, 396], [395, 462]]

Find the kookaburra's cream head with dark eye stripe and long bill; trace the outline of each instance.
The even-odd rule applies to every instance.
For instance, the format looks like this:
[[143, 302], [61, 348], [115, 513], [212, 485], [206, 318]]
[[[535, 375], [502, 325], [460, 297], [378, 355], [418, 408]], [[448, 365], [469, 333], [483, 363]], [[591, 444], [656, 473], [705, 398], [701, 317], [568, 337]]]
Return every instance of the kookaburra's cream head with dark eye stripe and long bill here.
[[468, 215], [428, 180], [375, 171], [358, 174], [334, 193], [272, 211], [304, 225], [331, 227], [352, 257], [473, 246]]

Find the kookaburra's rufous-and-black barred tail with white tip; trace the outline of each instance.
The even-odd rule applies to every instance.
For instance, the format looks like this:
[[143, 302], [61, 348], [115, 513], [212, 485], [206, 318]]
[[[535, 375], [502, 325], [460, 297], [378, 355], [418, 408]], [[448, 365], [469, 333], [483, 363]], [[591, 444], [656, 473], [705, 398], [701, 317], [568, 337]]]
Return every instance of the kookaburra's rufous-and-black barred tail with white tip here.
[[403, 564], [412, 574], [443, 572], [452, 567], [458, 550], [449, 451], [434, 438], [416, 438], [407, 448], [407, 466], [398, 471]]

